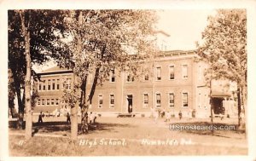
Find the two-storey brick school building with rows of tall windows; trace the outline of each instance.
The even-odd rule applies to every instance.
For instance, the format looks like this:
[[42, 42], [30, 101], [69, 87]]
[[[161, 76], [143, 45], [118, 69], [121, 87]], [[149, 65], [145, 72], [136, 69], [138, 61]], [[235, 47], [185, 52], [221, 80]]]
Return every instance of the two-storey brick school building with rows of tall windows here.
[[[151, 72], [141, 74], [139, 79], [113, 69], [109, 78], [96, 86], [89, 111], [102, 116], [128, 112], [148, 116], [153, 107], [171, 112], [175, 117], [180, 111], [183, 117], [191, 117], [191, 112], [195, 111], [196, 118], [208, 118], [210, 89], [204, 78], [207, 64], [197, 58], [194, 50], [161, 52], [144, 65]], [[61, 95], [63, 88], [73, 88], [73, 72], [55, 66], [39, 74], [35, 111], [53, 112], [63, 108]], [[89, 77], [87, 84], [87, 91], [90, 91], [92, 78]], [[229, 106], [229, 111], [234, 108], [230, 107], [230, 101], [234, 104], [234, 100], [230, 99], [229, 90], [217, 93], [216, 108]]]

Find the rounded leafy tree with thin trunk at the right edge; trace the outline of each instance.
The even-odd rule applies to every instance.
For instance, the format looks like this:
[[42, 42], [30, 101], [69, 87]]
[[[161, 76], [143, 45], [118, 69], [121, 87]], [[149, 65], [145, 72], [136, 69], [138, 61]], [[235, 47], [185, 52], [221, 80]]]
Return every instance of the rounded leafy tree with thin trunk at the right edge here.
[[247, 14], [245, 9], [219, 9], [208, 18], [198, 52], [210, 65], [212, 79], [226, 78], [237, 83], [238, 124], [241, 109], [247, 106]]

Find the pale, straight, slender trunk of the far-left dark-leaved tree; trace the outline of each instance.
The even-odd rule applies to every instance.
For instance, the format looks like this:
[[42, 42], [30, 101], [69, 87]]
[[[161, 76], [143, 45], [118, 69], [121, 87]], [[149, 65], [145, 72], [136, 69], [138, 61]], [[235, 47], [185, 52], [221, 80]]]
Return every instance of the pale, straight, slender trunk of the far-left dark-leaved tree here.
[[[28, 13], [30, 14], [30, 13]], [[30, 32], [29, 20], [27, 20], [27, 26], [25, 25], [25, 13], [24, 10], [20, 11], [20, 20], [22, 34], [25, 39], [25, 55], [26, 55], [26, 78], [25, 78], [25, 107], [26, 107], [26, 140], [32, 137], [32, 107], [31, 107], [31, 55], [30, 55]]]

